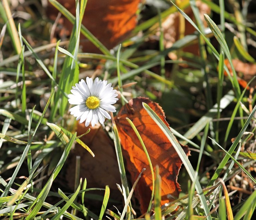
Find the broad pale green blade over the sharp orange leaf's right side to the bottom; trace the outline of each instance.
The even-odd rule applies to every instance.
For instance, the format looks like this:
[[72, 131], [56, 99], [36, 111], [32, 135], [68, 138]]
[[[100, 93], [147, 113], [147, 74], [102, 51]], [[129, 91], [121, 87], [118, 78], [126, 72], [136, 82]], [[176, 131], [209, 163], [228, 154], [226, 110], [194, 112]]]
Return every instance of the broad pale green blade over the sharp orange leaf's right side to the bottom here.
[[[188, 160], [188, 157], [185, 154], [184, 150], [182, 149], [179, 142], [177, 141], [177, 139], [172, 134], [170, 128], [167, 127], [164, 124], [164, 122], [159, 118], [159, 116], [146, 103], [143, 103], [143, 107], [148, 112], [149, 116], [156, 122], [156, 124], [159, 126], [159, 128], [163, 131], [163, 133], [168, 138], [168, 140], [171, 142], [175, 151], [179, 155], [182, 163], [184, 164], [190, 178], [194, 179], [195, 171], [194, 171], [190, 161]], [[196, 188], [196, 191], [197, 191], [197, 193], [199, 195], [199, 198], [201, 200], [201, 204], [202, 204], [203, 209], [205, 211], [205, 215], [207, 216], [206, 218], [211, 219], [210, 211], [209, 211], [209, 208], [207, 206], [206, 199], [205, 199], [205, 196], [204, 196], [203, 191], [202, 191], [202, 187], [201, 187], [198, 179], [195, 180], [195, 188]]]

